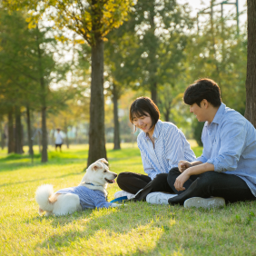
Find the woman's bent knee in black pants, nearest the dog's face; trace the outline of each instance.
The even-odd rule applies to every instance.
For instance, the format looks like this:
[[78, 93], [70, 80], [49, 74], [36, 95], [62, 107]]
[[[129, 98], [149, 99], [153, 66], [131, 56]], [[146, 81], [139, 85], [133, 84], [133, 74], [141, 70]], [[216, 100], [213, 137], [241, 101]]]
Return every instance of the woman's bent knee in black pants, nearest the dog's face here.
[[148, 182], [151, 182], [151, 178], [139, 173], [121, 172], [118, 175], [116, 182], [123, 191], [135, 194], [143, 189]]

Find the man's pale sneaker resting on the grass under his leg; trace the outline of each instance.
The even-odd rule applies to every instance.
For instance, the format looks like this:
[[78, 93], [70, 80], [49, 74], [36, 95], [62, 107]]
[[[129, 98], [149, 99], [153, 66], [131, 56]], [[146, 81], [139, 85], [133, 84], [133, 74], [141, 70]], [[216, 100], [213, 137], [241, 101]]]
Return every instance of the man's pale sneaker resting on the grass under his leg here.
[[213, 208], [213, 207], [222, 207], [225, 205], [225, 200], [222, 197], [210, 197], [210, 198], [202, 198], [202, 197], [192, 197], [187, 199], [184, 202], [184, 207], [202, 207], [202, 208]]

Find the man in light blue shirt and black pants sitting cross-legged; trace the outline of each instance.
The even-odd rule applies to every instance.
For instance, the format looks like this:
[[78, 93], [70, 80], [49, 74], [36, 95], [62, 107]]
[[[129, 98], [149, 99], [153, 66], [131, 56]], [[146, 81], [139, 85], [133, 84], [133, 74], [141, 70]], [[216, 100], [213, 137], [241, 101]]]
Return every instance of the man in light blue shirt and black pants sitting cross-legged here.
[[218, 84], [201, 79], [183, 97], [202, 130], [202, 156], [179, 162], [167, 177], [178, 195], [169, 204], [214, 207], [225, 202], [255, 200], [256, 130], [240, 113], [222, 103]]

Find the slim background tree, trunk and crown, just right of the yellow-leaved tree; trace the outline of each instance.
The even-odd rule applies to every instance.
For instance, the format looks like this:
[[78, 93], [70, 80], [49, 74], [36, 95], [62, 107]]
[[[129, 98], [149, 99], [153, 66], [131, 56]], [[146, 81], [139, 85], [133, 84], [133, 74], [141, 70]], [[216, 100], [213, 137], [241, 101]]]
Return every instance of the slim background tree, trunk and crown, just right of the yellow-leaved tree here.
[[118, 102], [122, 94], [133, 87], [136, 73], [133, 72], [133, 51], [137, 47], [134, 32], [127, 29], [127, 23], [113, 30], [105, 43], [105, 80], [113, 102], [113, 149], [121, 148]]

